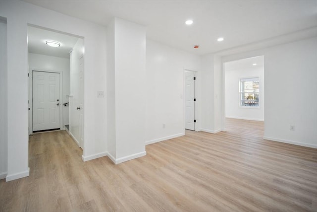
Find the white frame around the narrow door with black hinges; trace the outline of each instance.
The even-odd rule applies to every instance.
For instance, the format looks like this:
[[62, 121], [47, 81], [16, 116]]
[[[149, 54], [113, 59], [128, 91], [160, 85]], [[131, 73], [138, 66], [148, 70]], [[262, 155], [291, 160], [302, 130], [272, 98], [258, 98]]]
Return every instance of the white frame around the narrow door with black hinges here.
[[195, 80], [195, 98], [196, 98], [196, 101], [195, 101], [195, 119], [196, 119], [196, 123], [195, 123], [195, 131], [200, 131], [201, 129], [201, 116], [200, 116], [200, 102], [201, 100], [199, 99], [200, 98], [200, 72], [199, 71], [194, 71], [194, 70], [190, 70], [190, 69], [186, 69], [186, 68], [183, 68], [183, 94], [181, 96], [181, 98], [183, 99], [183, 133], [185, 134], [185, 71], [193, 71], [195, 72], [195, 77], [196, 77], [196, 80]]

